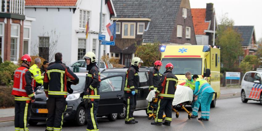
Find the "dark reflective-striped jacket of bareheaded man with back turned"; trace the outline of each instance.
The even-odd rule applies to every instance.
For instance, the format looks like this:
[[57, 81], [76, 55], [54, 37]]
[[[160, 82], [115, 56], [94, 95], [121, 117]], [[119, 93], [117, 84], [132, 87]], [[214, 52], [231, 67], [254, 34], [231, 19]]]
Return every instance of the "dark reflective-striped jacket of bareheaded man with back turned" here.
[[67, 97], [67, 79], [73, 84], [79, 82], [78, 77], [62, 61], [48, 66], [44, 75], [44, 90], [48, 97]]

